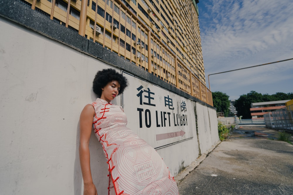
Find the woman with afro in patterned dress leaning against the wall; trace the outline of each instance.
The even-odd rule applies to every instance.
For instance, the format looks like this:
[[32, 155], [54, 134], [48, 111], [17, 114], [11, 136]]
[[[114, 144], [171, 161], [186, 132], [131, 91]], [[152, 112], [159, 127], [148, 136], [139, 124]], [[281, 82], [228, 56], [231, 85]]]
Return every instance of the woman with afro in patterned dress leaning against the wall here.
[[97, 194], [88, 149], [91, 131], [102, 144], [109, 169], [109, 194], [176, 194], [178, 188], [162, 158], [146, 141], [126, 127], [121, 106], [112, 100], [127, 87], [127, 79], [113, 69], [98, 71], [93, 91], [100, 96], [80, 115], [79, 158], [84, 195]]

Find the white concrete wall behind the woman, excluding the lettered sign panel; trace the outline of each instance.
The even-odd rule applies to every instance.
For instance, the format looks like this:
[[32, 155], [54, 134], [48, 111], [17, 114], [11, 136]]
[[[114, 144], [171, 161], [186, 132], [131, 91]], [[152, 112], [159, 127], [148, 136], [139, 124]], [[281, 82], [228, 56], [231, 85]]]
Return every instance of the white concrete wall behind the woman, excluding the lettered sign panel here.
[[[0, 194], [82, 194], [79, 115], [96, 99], [96, 72], [113, 67], [1, 17], [0, 26]], [[195, 104], [203, 152], [219, 139], [217, 116]], [[199, 155], [193, 134], [158, 149], [174, 175]], [[98, 194], [107, 194], [106, 159], [93, 134], [90, 152]]]

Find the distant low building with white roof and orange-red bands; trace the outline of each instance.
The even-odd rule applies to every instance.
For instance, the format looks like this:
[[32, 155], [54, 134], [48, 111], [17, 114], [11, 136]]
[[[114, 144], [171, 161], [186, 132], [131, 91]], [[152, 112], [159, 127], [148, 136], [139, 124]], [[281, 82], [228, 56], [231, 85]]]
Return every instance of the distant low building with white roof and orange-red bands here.
[[257, 102], [251, 103], [250, 113], [252, 119], [263, 119], [263, 115], [277, 109], [285, 108], [285, 103], [289, 100], [280, 100], [280, 101], [266, 101], [266, 102]]

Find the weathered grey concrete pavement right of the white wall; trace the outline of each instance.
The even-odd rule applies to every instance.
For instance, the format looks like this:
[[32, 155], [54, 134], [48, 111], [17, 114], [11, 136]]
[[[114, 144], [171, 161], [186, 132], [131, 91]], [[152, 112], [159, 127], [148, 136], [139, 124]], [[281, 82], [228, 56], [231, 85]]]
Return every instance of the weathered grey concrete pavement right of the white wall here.
[[293, 145], [232, 137], [175, 177], [180, 195], [293, 194]]

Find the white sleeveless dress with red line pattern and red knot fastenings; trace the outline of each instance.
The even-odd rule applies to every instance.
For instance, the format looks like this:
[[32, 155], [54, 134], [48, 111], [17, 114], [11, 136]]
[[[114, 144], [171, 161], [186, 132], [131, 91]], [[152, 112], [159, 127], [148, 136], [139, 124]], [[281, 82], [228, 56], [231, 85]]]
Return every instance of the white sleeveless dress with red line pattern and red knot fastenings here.
[[121, 106], [97, 99], [93, 130], [103, 146], [109, 169], [109, 194], [178, 195], [174, 177], [146, 141], [126, 127]]

